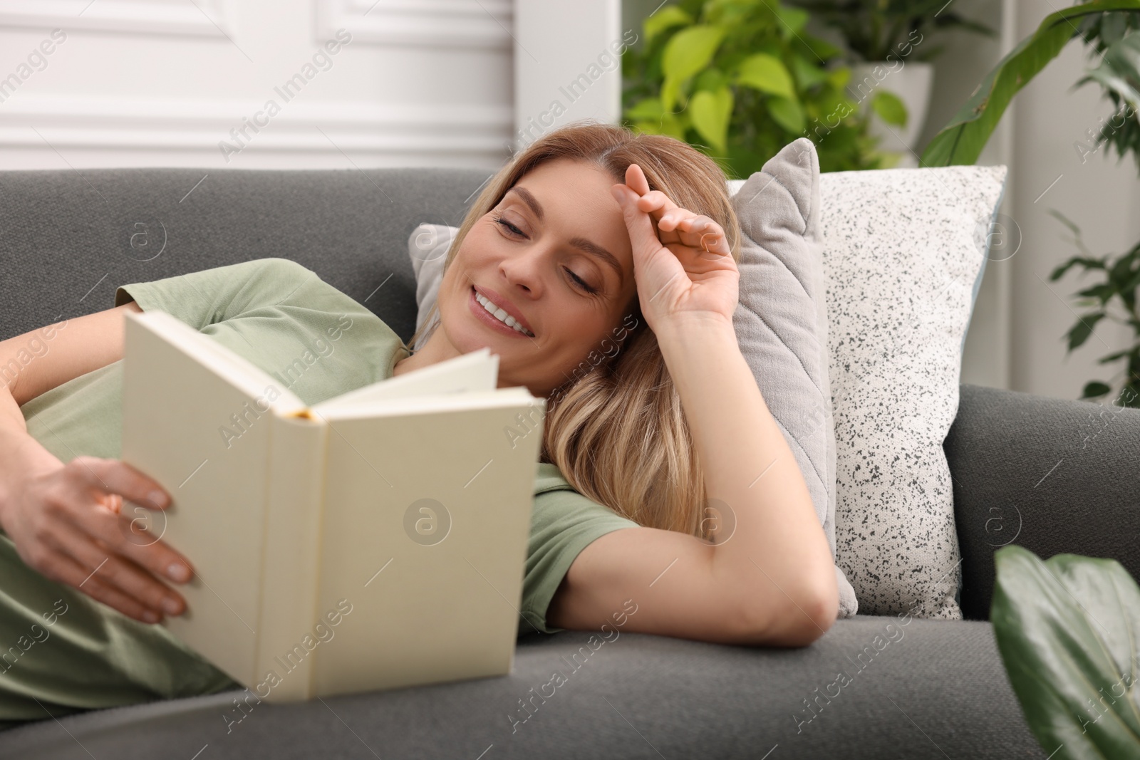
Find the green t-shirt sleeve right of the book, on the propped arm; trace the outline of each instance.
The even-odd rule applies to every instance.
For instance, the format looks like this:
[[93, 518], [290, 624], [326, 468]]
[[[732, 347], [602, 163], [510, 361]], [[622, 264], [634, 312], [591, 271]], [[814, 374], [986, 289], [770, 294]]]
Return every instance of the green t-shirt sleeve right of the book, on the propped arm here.
[[522, 582], [520, 635], [564, 630], [546, 624], [554, 593], [583, 549], [622, 528], [638, 524], [575, 491], [554, 465], [539, 465]]

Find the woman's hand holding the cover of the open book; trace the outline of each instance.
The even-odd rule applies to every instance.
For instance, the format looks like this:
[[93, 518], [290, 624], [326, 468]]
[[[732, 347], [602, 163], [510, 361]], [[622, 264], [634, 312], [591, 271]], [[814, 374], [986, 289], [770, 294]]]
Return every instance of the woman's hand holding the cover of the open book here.
[[156, 482], [119, 459], [82, 456], [65, 465], [34, 441], [6, 459], [0, 526], [25, 564], [142, 622], [185, 611], [181, 595], [158, 579], [186, 582], [192, 565], [139, 530], [142, 517], [122, 514], [123, 499], [169, 506]]

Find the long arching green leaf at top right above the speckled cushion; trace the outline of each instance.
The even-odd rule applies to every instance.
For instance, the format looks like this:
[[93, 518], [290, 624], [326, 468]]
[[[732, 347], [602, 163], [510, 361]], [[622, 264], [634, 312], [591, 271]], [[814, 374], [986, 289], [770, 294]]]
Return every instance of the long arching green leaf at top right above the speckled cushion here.
[[991, 71], [922, 152], [920, 166], [972, 164], [1013, 96], [1076, 35], [1076, 19], [1113, 10], [1140, 11], [1140, 0], [1093, 0], [1050, 14]]

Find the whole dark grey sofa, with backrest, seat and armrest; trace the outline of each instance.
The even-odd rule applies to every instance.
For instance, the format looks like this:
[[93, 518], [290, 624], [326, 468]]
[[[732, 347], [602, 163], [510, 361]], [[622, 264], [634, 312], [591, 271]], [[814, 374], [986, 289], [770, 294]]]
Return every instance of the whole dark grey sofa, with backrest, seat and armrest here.
[[[107, 309], [120, 284], [284, 256], [407, 340], [416, 316], [408, 234], [425, 221], [458, 224], [488, 172], [204, 174], [0, 172], [0, 338]], [[894, 616], [837, 621], [801, 649], [622, 634], [545, 698], [538, 687], [554, 669], [565, 673], [589, 634], [530, 635], [507, 677], [253, 704], [228, 730], [238, 693], [44, 714], [0, 734], [0, 757], [1047, 758], [987, 622], [993, 553], [1013, 540], [1041, 557], [1114, 557], [1140, 577], [1140, 412], [1112, 424], [1100, 412], [962, 386], [945, 450], [968, 619], [912, 619], [881, 651], [872, 639], [887, 637]], [[829, 697], [840, 670], [852, 681]]]

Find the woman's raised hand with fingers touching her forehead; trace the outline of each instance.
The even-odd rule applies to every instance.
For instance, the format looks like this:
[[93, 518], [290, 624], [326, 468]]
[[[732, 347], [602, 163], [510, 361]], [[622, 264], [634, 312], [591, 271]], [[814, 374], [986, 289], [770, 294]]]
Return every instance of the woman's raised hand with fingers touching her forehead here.
[[625, 185], [610, 191], [629, 230], [637, 295], [650, 328], [659, 333], [686, 319], [724, 320], [731, 327], [740, 270], [724, 229], [650, 190], [637, 164], [626, 170]]

